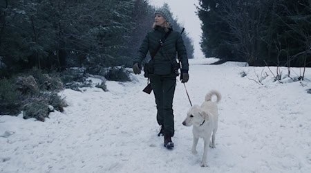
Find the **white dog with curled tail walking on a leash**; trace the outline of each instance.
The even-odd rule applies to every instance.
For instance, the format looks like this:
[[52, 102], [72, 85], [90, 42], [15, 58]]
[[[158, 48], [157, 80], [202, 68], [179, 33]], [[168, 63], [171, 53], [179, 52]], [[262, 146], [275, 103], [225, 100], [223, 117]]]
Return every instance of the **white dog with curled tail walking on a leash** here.
[[[216, 102], [211, 101], [211, 97], [216, 95]], [[193, 125], [192, 132], [194, 134], [194, 143], [192, 145], [191, 152], [197, 154], [196, 145], [198, 139], [203, 138], [204, 140], [204, 153], [202, 158], [202, 167], [207, 166], [207, 149], [208, 146], [215, 147], [215, 136], [218, 126], [218, 107], [217, 104], [221, 98], [218, 91], [210, 91], [205, 96], [205, 102], [199, 107], [194, 105], [187, 113], [187, 118], [182, 122], [182, 125], [191, 126]], [[211, 133], [213, 135], [211, 136]], [[211, 143], [209, 139], [211, 138]]]

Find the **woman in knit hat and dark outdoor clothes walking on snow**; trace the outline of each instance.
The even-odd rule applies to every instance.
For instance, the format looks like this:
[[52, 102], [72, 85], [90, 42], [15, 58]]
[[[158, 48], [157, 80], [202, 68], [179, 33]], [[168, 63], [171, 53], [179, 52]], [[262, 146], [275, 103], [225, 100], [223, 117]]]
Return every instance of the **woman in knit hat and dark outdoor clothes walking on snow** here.
[[[149, 63], [149, 78], [156, 98], [157, 121], [161, 126], [160, 134], [164, 135], [164, 147], [174, 147], [171, 137], [174, 135], [173, 95], [176, 77], [180, 69], [181, 82], [189, 80], [188, 57], [185, 44], [179, 32], [173, 31], [168, 22], [170, 13], [167, 8], [160, 8], [155, 12], [153, 30], [144, 38], [138, 57], [133, 61], [133, 72], [140, 74], [142, 60], [148, 51], [152, 57]], [[181, 67], [176, 61], [176, 53]]]

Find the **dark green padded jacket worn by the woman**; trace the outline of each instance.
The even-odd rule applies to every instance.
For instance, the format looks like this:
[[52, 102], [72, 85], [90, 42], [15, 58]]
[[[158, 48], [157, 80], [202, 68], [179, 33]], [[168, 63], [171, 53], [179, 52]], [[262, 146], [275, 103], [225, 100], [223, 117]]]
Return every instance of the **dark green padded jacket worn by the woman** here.
[[[162, 48], [160, 48], [156, 56], [153, 57], [154, 74], [156, 75], [169, 75], [173, 73], [172, 62], [176, 63], [176, 53], [178, 53], [178, 57], [182, 63], [182, 72], [188, 72], [189, 70], [187, 51], [182, 36], [179, 32], [173, 31], [171, 28], [170, 30], [171, 33], [167, 39], [165, 39]], [[138, 63], [139, 66], [141, 66], [142, 60], [144, 60], [148, 51], [149, 53], [154, 53], [160, 44], [160, 39], [162, 39], [164, 35], [164, 28], [160, 26], [157, 26], [151, 32], [147, 33], [138, 51], [138, 57], [134, 59], [134, 64]], [[169, 58], [171, 58], [171, 60], [169, 60]]]

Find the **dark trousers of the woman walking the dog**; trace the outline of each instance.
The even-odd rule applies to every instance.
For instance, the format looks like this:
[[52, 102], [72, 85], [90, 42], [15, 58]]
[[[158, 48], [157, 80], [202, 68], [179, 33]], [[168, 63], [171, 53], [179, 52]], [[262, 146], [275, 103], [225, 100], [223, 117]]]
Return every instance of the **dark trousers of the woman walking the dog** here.
[[164, 135], [174, 135], [173, 97], [176, 75], [150, 75], [150, 82], [157, 104], [157, 121], [164, 127]]

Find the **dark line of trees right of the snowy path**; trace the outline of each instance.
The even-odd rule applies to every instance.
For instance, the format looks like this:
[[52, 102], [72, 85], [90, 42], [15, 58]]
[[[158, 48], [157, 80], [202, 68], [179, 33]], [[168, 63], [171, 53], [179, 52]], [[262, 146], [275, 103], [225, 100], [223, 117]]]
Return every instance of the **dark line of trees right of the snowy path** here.
[[311, 66], [311, 0], [200, 0], [206, 57]]

